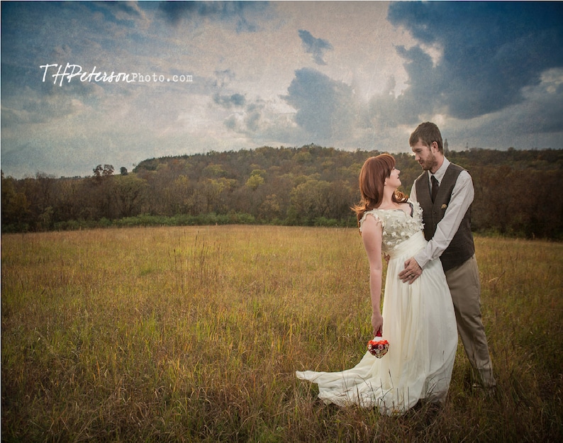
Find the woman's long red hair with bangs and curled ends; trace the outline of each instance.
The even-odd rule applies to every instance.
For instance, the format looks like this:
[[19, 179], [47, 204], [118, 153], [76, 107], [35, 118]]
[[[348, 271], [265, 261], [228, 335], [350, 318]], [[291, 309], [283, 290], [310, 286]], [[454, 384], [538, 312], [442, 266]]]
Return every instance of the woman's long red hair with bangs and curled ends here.
[[[362, 170], [359, 172], [359, 194], [361, 200], [359, 204], [352, 208], [352, 211], [356, 213], [358, 225], [359, 220], [362, 220], [366, 211], [371, 211], [381, 205], [385, 179], [389, 179], [394, 167], [395, 159], [389, 154], [369, 157], [364, 162], [364, 166], [362, 166]], [[404, 203], [407, 196], [401, 191], [396, 190], [392, 199], [395, 203]]]

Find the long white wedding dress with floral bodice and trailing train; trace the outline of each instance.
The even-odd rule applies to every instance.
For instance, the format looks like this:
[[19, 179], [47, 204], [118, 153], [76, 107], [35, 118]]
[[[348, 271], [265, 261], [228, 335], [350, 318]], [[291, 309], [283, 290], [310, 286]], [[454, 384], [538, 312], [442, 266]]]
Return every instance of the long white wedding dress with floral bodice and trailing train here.
[[405, 413], [418, 400], [440, 402], [450, 386], [457, 350], [457, 327], [450, 290], [440, 259], [428, 262], [413, 284], [398, 274], [406, 259], [425, 247], [422, 210], [411, 203], [401, 209], [374, 209], [383, 227], [382, 251], [389, 254], [383, 300], [383, 337], [389, 352], [378, 359], [366, 352], [359, 364], [340, 372], [297, 371], [298, 378], [318, 384], [325, 403], [377, 407], [386, 415]]

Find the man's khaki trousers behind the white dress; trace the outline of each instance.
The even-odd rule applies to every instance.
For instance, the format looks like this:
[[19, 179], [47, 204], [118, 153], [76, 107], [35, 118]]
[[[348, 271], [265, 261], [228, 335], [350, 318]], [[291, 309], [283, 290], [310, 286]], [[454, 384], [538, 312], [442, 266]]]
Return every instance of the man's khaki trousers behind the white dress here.
[[457, 332], [462, 337], [467, 358], [478, 372], [481, 384], [495, 386], [493, 364], [481, 319], [481, 283], [475, 255], [445, 274], [452, 293]]

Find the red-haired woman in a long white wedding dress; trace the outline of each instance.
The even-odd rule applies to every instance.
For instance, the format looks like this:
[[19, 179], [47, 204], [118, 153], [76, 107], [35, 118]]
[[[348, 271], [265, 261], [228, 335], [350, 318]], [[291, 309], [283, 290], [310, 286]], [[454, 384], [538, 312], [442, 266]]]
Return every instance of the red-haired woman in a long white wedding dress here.
[[[382, 358], [367, 352], [345, 371], [296, 372], [318, 384], [325, 403], [377, 407], [386, 415], [405, 413], [418, 400], [442, 403], [457, 350], [454, 308], [440, 259], [425, 266], [413, 284], [398, 278], [405, 260], [426, 244], [422, 210], [398, 191], [399, 172], [389, 154], [367, 159], [359, 173], [362, 200], [354, 208], [369, 261], [373, 336], [383, 332], [389, 352]], [[380, 312], [382, 254], [389, 264]]]

